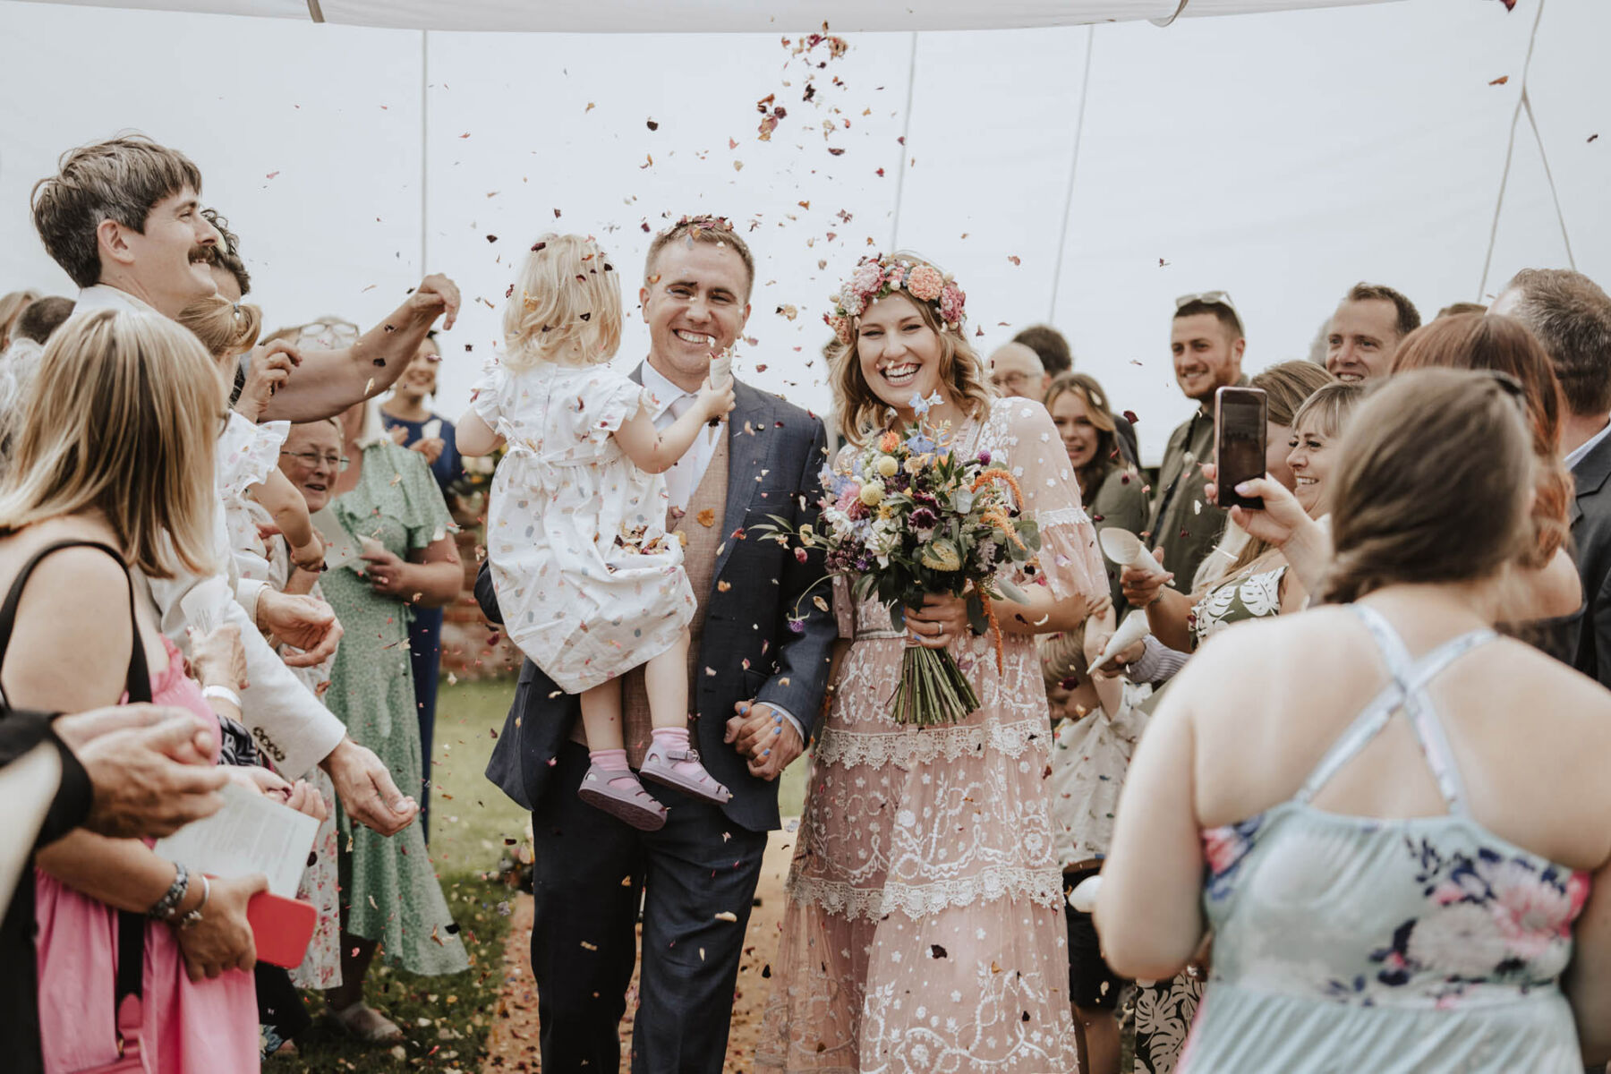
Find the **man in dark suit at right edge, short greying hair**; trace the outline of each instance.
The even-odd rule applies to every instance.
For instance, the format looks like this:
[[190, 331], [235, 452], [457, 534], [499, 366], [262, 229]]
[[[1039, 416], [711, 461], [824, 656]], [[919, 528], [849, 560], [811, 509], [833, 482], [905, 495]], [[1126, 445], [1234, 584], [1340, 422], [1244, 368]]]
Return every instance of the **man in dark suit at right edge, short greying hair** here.
[[1543, 343], [1566, 401], [1561, 451], [1577, 483], [1569, 517], [1584, 607], [1555, 625], [1548, 647], [1611, 686], [1611, 296], [1580, 272], [1522, 269], [1492, 312]]

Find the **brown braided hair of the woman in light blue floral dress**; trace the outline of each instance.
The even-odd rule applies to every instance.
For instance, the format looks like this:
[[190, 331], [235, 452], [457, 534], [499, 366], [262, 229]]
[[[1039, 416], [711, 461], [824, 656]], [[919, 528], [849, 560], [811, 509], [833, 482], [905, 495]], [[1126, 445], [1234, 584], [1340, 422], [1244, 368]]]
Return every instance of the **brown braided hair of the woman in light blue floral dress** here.
[[1514, 377], [1395, 374], [1360, 404], [1337, 449], [1336, 556], [1319, 599], [1348, 604], [1390, 585], [1477, 581], [1524, 564], [1539, 469]]

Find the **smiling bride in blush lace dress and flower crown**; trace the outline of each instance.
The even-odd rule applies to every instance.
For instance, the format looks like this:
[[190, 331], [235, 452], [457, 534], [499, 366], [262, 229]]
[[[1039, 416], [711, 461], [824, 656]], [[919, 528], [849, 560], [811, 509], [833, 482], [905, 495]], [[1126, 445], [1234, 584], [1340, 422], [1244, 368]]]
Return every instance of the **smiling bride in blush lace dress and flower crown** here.
[[[1108, 589], [1095, 531], [1046, 409], [996, 399], [963, 332], [963, 295], [909, 254], [863, 259], [828, 319], [847, 451], [939, 403], [959, 451], [989, 452], [1041, 528], [1026, 604], [996, 602], [1005, 671], [967, 604], [928, 596], [907, 631], [855, 609], [817, 741], [757, 1064], [781, 1071], [1073, 1071], [1062, 874], [1042, 783], [1052, 737], [1034, 634], [1071, 630]], [[1039, 585], [1028, 585], [1037, 581]], [[909, 644], [949, 647], [979, 708], [897, 725]]]

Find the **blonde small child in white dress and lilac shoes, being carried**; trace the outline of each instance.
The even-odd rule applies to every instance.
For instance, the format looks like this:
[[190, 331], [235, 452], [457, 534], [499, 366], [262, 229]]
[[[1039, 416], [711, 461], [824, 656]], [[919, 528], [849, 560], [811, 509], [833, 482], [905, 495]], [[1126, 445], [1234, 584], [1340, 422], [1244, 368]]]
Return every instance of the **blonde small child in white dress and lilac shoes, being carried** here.
[[640, 775], [712, 802], [688, 741], [688, 623], [694, 596], [665, 531], [669, 470], [706, 423], [733, 409], [709, 383], [665, 430], [649, 393], [607, 362], [620, 345], [620, 283], [591, 238], [545, 235], [509, 290], [504, 353], [458, 427], [459, 454], [509, 448], [487, 510], [504, 630], [559, 689], [582, 696], [591, 766], [580, 797], [654, 831], [665, 807], [632, 768], [619, 678], [643, 665], [654, 741]]

